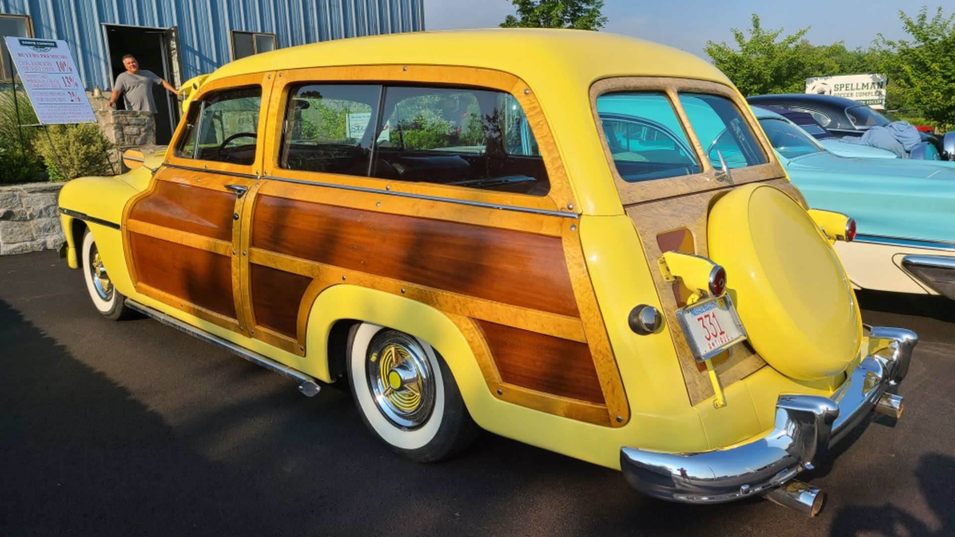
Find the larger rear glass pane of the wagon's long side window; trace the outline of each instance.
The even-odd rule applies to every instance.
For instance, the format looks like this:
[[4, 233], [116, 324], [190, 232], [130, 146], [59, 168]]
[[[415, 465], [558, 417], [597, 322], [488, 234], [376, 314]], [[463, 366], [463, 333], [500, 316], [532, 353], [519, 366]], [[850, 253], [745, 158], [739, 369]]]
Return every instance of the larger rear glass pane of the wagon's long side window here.
[[371, 175], [542, 196], [537, 140], [516, 98], [472, 88], [389, 87]]

